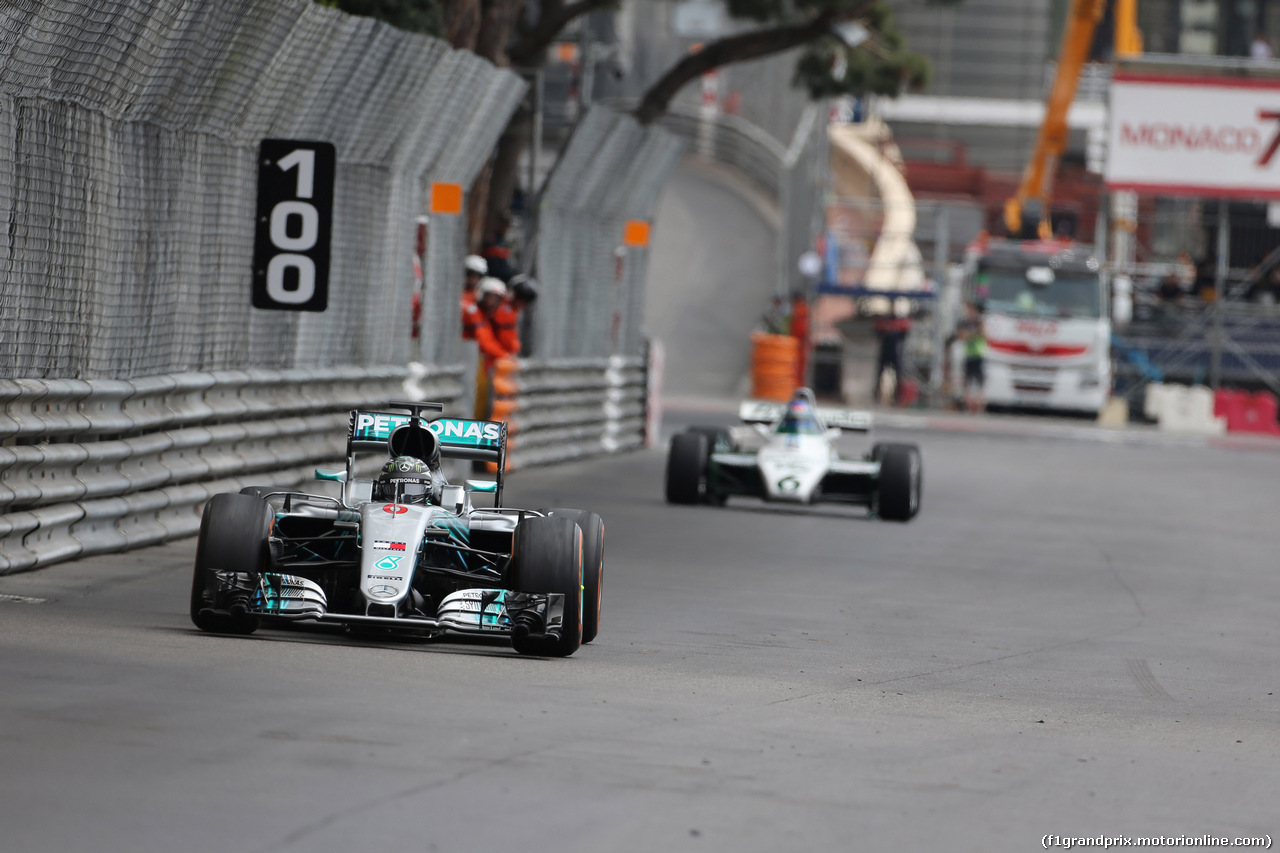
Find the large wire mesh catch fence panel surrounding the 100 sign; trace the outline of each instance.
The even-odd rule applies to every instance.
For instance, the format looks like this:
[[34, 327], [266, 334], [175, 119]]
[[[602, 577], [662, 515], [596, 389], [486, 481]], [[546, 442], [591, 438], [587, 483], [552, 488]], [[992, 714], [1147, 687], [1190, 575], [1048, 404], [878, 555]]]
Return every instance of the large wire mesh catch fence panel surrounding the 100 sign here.
[[[426, 187], [470, 184], [524, 86], [311, 0], [4, 4], [0, 375], [406, 364]], [[250, 307], [268, 137], [337, 149], [321, 314]], [[465, 247], [436, 225], [422, 339], [452, 364]]]

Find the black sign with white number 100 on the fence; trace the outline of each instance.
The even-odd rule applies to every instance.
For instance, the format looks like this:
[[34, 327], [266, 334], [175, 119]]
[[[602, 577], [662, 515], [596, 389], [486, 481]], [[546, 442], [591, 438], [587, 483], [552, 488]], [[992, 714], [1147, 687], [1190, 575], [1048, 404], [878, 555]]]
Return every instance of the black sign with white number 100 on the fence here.
[[253, 307], [328, 307], [333, 164], [332, 142], [262, 140], [259, 146]]

